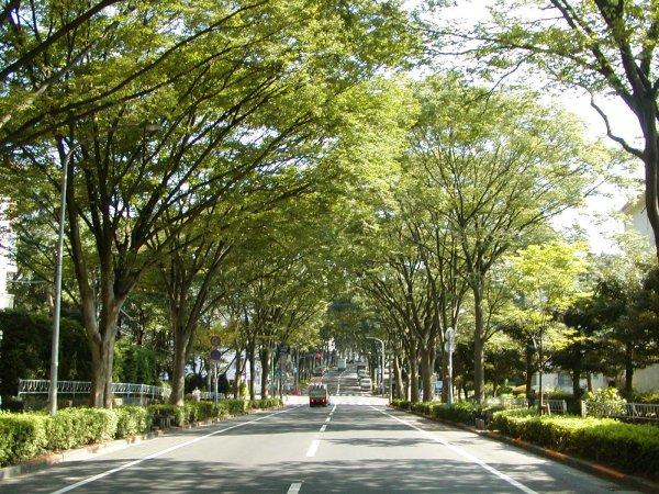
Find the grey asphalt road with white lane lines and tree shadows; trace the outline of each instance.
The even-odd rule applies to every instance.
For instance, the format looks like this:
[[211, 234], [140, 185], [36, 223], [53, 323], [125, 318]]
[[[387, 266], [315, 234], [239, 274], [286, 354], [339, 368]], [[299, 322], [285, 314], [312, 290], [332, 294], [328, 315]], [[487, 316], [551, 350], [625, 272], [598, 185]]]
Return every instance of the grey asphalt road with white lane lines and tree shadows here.
[[182, 430], [0, 482], [0, 493], [632, 492], [509, 445], [392, 411], [354, 373], [331, 406]]

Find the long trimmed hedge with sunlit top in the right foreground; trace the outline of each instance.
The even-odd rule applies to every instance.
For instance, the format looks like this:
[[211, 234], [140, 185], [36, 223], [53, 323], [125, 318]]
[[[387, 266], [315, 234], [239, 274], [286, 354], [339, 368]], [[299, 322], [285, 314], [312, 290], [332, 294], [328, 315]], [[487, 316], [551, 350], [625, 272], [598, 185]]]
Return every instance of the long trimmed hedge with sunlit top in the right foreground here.
[[626, 472], [659, 476], [659, 429], [652, 425], [511, 411], [494, 414], [492, 427], [506, 436]]

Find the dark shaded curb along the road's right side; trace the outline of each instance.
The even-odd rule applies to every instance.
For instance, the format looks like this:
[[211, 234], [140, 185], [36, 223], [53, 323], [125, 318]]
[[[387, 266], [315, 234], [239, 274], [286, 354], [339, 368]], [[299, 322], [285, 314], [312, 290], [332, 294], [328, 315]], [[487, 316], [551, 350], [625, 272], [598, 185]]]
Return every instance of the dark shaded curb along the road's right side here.
[[456, 427], [462, 430], [467, 430], [469, 433], [478, 434], [479, 436], [483, 436], [490, 439], [494, 439], [500, 442], [506, 442], [512, 446], [516, 446], [517, 448], [524, 449], [526, 451], [530, 451], [540, 457], [549, 458], [551, 460], [559, 461], [561, 463], [568, 464], [576, 469], [582, 470], [584, 472], [605, 476], [613, 481], [616, 481], [621, 484], [624, 484], [629, 487], [634, 487], [647, 493], [657, 493], [659, 492], [659, 484], [652, 482], [649, 479], [645, 479], [637, 475], [630, 475], [628, 473], [619, 472], [611, 467], [605, 467], [600, 463], [595, 463], [589, 460], [582, 460], [581, 458], [571, 457], [569, 454], [562, 453], [560, 451], [556, 451], [554, 449], [543, 448], [541, 446], [534, 445], [532, 442], [523, 441], [522, 439], [512, 438], [509, 436], [504, 436], [498, 431], [493, 430], [483, 430], [477, 429], [476, 427], [468, 426], [466, 424], [460, 424], [457, 422], [448, 420], [446, 418], [435, 418], [428, 417], [427, 415], [423, 415], [416, 412], [411, 412], [402, 408], [396, 408], [395, 406], [390, 406], [393, 409], [407, 413], [410, 415], [416, 415], [417, 417], [425, 418], [426, 420], [436, 422], [439, 424], [450, 425], [451, 427]]

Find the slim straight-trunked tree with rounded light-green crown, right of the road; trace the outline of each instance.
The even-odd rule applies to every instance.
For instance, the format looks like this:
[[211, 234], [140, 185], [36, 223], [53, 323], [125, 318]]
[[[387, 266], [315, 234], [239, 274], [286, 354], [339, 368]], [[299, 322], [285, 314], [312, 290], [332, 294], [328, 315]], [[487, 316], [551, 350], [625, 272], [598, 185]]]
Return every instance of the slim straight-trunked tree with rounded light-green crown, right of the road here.
[[443, 191], [439, 209], [460, 246], [474, 307], [474, 392], [484, 382], [488, 277], [501, 257], [548, 218], [578, 204], [599, 153], [570, 115], [536, 105], [527, 93], [490, 93], [457, 77], [418, 90], [422, 114], [411, 159]]

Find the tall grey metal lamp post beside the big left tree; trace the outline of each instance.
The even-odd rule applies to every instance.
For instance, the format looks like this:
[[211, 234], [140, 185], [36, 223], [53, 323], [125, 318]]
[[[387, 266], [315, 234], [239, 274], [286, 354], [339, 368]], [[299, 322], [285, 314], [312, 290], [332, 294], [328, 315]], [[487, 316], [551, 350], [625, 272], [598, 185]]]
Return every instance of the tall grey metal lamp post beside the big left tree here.
[[51, 386], [48, 388], [48, 413], [57, 413], [57, 370], [59, 368], [59, 313], [62, 310], [62, 256], [64, 252], [64, 221], [66, 216], [66, 186], [68, 165], [74, 147], [64, 157], [62, 170], [62, 195], [59, 203], [59, 232], [57, 237], [57, 267], [55, 271], [55, 307], [53, 311], [53, 339], [51, 341]]

